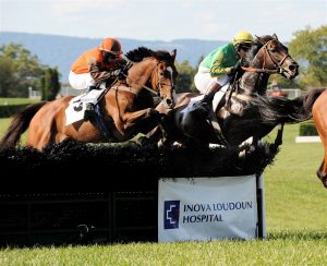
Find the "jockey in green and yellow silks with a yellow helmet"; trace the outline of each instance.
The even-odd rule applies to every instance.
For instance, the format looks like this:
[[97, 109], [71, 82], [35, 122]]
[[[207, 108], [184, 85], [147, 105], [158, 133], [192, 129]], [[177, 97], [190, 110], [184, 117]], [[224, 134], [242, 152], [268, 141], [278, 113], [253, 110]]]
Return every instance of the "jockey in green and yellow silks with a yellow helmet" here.
[[223, 85], [229, 84], [252, 44], [252, 34], [241, 31], [237, 33], [232, 41], [209, 52], [201, 62], [194, 76], [194, 83], [199, 93], [215, 94]]

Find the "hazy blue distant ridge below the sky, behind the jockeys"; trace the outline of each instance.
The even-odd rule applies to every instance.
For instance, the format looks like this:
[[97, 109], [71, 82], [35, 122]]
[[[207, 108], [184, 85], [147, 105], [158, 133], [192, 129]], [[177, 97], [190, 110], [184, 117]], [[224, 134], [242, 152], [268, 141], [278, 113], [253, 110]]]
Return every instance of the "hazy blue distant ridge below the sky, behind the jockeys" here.
[[[214, 48], [225, 44], [222, 40], [175, 39], [162, 40], [137, 40], [120, 38], [123, 51], [130, 51], [141, 46], [153, 50], [177, 49], [177, 61], [180, 63], [187, 60], [195, 66], [202, 56], [207, 55]], [[47, 34], [26, 34], [0, 32], [0, 46], [10, 43], [22, 44], [33, 55], [36, 55], [41, 63], [49, 66], [58, 66], [61, 73], [61, 82], [68, 82], [71, 63], [85, 50], [96, 47], [101, 43], [100, 38], [80, 38]]]

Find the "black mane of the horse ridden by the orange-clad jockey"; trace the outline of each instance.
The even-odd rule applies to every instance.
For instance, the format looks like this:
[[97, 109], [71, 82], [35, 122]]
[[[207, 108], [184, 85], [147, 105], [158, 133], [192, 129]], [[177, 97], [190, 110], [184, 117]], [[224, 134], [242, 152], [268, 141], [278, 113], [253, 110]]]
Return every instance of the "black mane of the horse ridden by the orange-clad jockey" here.
[[150, 58], [150, 57], [154, 57], [159, 61], [173, 62], [173, 58], [168, 51], [165, 50], [154, 51], [143, 46], [134, 50], [128, 51], [125, 53], [125, 57], [133, 62], [141, 62], [143, 59]]

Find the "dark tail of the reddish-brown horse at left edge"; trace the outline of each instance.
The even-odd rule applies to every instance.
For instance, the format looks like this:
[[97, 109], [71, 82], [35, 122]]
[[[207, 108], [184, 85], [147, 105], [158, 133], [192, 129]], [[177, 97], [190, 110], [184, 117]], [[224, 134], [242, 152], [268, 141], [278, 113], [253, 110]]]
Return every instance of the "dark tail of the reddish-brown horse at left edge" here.
[[27, 130], [31, 120], [35, 113], [46, 104], [47, 101], [40, 101], [34, 105], [27, 106], [24, 110], [16, 113], [13, 117], [4, 136], [0, 141], [0, 147], [14, 147], [21, 138], [21, 135]]

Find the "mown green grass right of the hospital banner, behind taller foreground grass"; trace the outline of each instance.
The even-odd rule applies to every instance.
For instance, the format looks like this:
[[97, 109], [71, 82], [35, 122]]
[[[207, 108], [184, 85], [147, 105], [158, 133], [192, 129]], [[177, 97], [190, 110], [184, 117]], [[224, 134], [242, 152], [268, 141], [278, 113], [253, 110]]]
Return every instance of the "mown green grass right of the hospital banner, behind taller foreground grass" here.
[[327, 228], [327, 191], [316, 177], [324, 149], [320, 143], [295, 143], [298, 134], [299, 124], [286, 126], [280, 153], [264, 173], [270, 230]]

